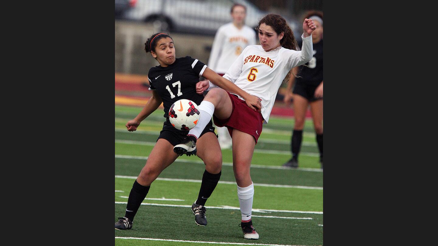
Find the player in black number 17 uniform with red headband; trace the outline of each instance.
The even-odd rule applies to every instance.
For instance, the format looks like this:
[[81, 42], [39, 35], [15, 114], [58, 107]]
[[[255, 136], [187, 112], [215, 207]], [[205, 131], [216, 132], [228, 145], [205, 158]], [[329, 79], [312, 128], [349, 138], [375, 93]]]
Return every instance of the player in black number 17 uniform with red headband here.
[[[164, 105], [166, 121], [145, 166], [134, 181], [125, 216], [119, 218], [115, 224], [115, 228], [119, 230], [132, 228], [134, 216], [141, 202], [145, 199], [151, 183], [177, 159], [178, 155], [173, 152], [173, 147], [187, 136], [188, 131], [177, 130], [170, 124], [168, 118], [170, 107], [179, 99], [189, 99], [199, 105], [204, 98], [202, 92], [196, 93], [195, 88], [200, 74], [207, 67], [204, 63], [190, 56], [176, 58], [173, 39], [164, 33], [152, 35], [145, 43], [145, 50], [146, 53], [151, 53], [160, 65], [152, 67], [148, 73], [149, 90], [152, 90], [152, 97], [141, 112], [127, 122], [126, 127], [128, 131], [137, 130], [141, 121], [154, 112], [161, 103]], [[197, 142], [197, 152], [187, 153], [188, 155], [198, 155], [205, 163], [205, 172], [202, 176], [198, 199], [191, 208], [195, 214], [196, 224], [202, 226], [207, 225], [205, 202], [215, 189], [222, 169], [222, 152], [214, 129], [210, 119], [210, 123], [207, 124]]]

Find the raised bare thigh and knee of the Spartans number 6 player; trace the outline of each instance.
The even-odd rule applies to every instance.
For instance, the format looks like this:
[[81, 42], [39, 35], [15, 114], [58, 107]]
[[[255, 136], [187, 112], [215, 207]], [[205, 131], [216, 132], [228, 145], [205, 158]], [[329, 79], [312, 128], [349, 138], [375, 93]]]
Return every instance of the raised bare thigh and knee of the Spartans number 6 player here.
[[215, 105], [214, 115], [219, 119], [228, 119], [233, 112], [233, 104], [231, 103], [228, 93], [221, 88], [213, 88], [208, 91], [204, 101], [211, 102]]

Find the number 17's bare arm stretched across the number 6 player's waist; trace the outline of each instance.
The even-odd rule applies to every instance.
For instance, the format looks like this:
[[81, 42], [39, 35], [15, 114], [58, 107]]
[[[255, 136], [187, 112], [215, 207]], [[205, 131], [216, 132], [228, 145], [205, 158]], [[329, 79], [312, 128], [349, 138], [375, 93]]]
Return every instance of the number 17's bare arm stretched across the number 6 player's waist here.
[[246, 91], [240, 89], [236, 84], [233, 82], [227, 80], [226, 78], [220, 76], [219, 74], [216, 74], [215, 71], [211, 70], [210, 68], [205, 68], [204, 73], [202, 74], [203, 77], [208, 79], [210, 82], [215, 84], [216, 86], [223, 88], [224, 90], [234, 93], [236, 95], [240, 95], [242, 98], [245, 99], [246, 104], [248, 107], [250, 107], [253, 110], [261, 111], [261, 103], [258, 97], [250, 95]]

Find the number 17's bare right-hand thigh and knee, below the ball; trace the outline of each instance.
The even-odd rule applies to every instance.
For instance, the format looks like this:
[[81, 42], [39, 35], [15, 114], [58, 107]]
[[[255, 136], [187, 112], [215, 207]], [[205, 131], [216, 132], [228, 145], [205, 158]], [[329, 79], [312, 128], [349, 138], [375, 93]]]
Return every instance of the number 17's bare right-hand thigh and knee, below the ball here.
[[217, 174], [222, 170], [222, 151], [216, 135], [205, 133], [196, 141], [197, 156], [205, 163], [205, 170]]

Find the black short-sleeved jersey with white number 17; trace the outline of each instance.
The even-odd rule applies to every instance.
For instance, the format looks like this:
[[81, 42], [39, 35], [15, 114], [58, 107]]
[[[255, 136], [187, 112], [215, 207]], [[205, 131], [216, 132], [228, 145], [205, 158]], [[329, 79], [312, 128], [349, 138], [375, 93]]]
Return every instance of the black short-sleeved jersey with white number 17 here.
[[169, 118], [169, 109], [180, 99], [201, 104], [203, 95], [196, 93], [196, 83], [207, 65], [190, 56], [177, 58], [168, 67], [151, 67], [148, 73], [149, 90], [156, 90], [164, 105], [164, 117]]

